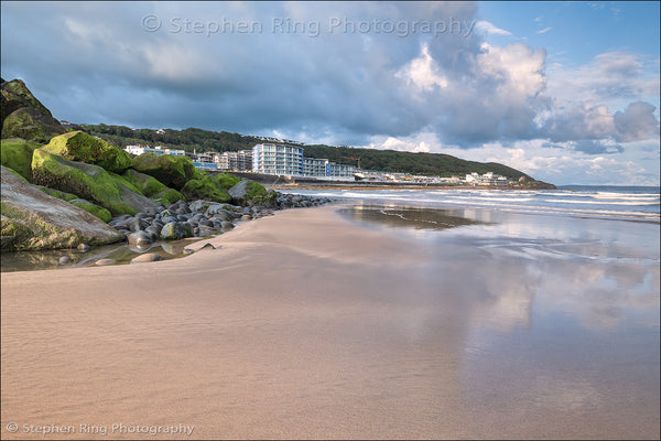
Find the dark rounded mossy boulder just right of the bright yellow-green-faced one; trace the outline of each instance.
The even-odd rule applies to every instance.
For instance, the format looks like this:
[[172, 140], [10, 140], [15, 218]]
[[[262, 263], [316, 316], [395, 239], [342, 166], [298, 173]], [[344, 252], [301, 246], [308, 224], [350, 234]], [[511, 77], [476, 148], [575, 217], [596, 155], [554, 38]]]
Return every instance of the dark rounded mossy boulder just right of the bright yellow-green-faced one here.
[[186, 182], [196, 178], [193, 161], [187, 157], [143, 153], [133, 158], [131, 168], [180, 191]]

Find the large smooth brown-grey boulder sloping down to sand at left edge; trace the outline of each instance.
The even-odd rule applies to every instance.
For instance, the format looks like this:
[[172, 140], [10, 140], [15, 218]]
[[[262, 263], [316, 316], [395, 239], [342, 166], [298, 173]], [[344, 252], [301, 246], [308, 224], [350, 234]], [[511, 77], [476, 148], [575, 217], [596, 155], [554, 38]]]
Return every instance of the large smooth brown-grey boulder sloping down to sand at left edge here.
[[98, 217], [68, 202], [47, 195], [0, 168], [2, 182], [2, 250], [75, 248], [123, 239]]

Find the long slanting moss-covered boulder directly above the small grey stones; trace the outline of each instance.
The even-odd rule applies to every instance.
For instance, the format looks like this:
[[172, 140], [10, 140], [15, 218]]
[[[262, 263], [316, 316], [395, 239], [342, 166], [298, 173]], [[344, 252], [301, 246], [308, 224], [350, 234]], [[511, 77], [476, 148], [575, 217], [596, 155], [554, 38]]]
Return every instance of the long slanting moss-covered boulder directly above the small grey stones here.
[[76, 194], [102, 206], [115, 216], [134, 215], [159, 207], [122, 176], [98, 165], [69, 161], [43, 149], [34, 150], [32, 176], [37, 185]]

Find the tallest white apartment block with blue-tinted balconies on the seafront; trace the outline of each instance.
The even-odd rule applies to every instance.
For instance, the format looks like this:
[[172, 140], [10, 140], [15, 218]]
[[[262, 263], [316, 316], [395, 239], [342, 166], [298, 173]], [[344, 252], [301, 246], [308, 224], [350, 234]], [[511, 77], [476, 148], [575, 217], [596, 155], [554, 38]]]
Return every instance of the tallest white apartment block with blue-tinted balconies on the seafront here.
[[252, 171], [264, 174], [303, 174], [303, 148], [257, 144], [252, 148]]

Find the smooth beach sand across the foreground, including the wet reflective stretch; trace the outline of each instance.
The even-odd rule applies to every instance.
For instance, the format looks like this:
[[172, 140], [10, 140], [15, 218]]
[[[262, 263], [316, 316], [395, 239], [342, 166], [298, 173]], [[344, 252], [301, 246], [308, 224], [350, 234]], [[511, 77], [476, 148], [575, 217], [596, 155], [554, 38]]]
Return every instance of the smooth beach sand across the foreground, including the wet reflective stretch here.
[[2, 273], [2, 439], [659, 438], [658, 255], [336, 211], [184, 259]]

